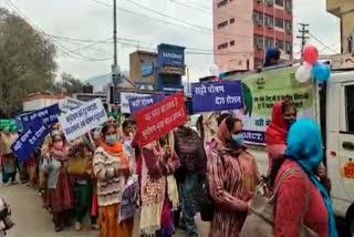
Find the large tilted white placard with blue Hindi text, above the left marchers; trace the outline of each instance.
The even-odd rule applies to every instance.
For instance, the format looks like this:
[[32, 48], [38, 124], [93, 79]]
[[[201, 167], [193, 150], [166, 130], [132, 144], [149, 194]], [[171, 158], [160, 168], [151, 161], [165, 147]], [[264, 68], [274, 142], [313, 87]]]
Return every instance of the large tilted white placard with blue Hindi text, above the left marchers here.
[[101, 99], [84, 103], [59, 117], [59, 123], [62, 125], [63, 133], [69, 142], [79, 138], [90, 130], [98, 127], [106, 121], [107, 114]]

